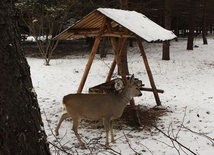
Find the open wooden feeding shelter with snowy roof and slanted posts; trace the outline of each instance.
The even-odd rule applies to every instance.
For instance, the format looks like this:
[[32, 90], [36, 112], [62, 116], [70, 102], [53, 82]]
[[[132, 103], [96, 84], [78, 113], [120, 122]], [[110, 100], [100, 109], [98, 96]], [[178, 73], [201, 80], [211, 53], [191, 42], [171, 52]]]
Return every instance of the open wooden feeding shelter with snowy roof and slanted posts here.
[[[111, 64], [106, 82], [111, 80], [116, 65], [119, 68], [122, 79], [126, 80], [126, 74], [122, 67], [120, 55], [123, 52], [122, 49], [124, 47], [125, 41], [128, 38], [132, 38], [135, 39], [138, 43], [140, 53], [142, 55], [143, 62], [145, 64], [145, 68], [151, 84], [151, 89], [147, 90], [151, 90], [153, 92], [156, 104], [161, 105], [158, 92], [162, 92], [162, 90], [157, 90], [155, 86], [152, 72], [147, 61], [146, 53], [142, 45], [142, 40], [145, 40], [147, 42], [172, 40], [176, 38], [176, 36], [171, 31], [162, 28], [143, 14], [135, 11], [99, 8], [92, 11], [87, 16], [65, 29], [54, 39], [61, 40], [84, 37], [95, 37], [95, 41], [91, 49], [91, 53], [77, 93], [82, 92], [102, 37], [110, 38], [111, 45], [114, 50], [114, 60]], [[117, 43], [116, 38], [119, 38], [119, 43]]]

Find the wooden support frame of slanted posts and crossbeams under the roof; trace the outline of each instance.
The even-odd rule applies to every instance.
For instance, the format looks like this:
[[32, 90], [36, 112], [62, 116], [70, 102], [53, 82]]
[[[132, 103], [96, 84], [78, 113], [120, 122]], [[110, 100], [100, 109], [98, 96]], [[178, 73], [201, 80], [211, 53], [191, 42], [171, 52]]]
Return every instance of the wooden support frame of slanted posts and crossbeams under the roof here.
[[[147, 74], [148, 74], [148, 77], [149, 77], [149, 81], [150, 81], [150, 84], [151, 84], [151, 87], [152, 87], [152, 92], [153, 92], [155, 100], [156, 100], [156, 104], [158, 106], [161, 105], [160, 98], [159, 98], [159, 95], [158, 95], [158, 91], [157, 91], [157, 88], [155, 86], [155, 82], [154, 82], [154, 79], [153, 79], [153, 76], [152, 76], [152, 72], [150, 70], [149, 63], [148, 63], [148, 60], [147, 60], [147, 57], [146, 57], [146, 53], [145, 53], [143, 45], [142, 45], [142, 39], [139, 36], [131, 34], [127, 29], [124, 32], [121, 32], [121, 31], [115, 32], [115, 31], [113, 31], [113, 28], [112, 28], [110, 22], [111, 21], [110, 21], [109, 18], [104, 17], [103, 21], [102, 21], [102, 25], [101, 25], [101, 27], [99, 29], [99, 33], [93, 33], [92, 30], [91, 31], [78, 31], [78, 33], [79, 33], [78, 35], [96, 36], [96, 37], [95, 37], [94, 45], [93, 45], [92, 50], [91, 50], [91, 54], [89, 56], [88, 62], [87, 62], [86, 67], [85, 67], [85, 71], [83, 73], [79, 88], [77, 90], [77, 93], [81, 93], [82, 92], [82, 89], [84, 87], [85, 81], [87, 79], [89, 70], [91, 68], [91, 65], [92, 65], [92, 62], [93, 62], [93, 59], [94, 59], [94, 56], [95, 56], [95, 54], [97, 52], [97, 48], [99, 46], [101, 37], [110, 37], [112, 48], [113, 48], [114, 54], [115, 54], [114, 60], [113, 60], [113, 62], [111, 64], [111, 68], [110, 68], [109, 73], [107, 75], [106, 81], [110, 81], [111, 80], [111, 77], [113, 75], [113, 72], [115, 70], [116, 65], [119, 68], [119, 71], [120, 71], [120, 74], [122, 76], [122, 79], [124, 81], [126, 81], [126, 74], [125, 74], [125, 71], [124, 71], [124, 69], [122, 68], [122, 65], [121, 65], [120, 53], [122, 52], [122, 49], [124, 47], [126, 39], [127, 38], [135, 38], [137, 43], [138, 43], [138, 46], [139, 46], [139, 49], [140, 49], [140, 52], [141, 52], [141, 55], [142, 55], [142, 58], [143, 58], [143, 61], [144, 61], [144, 65], [145, 65], [145, 68], [146, 68], [146, 71], [147, 71]], [[120, 38], [119, 45], [117, 44], [115, 37]]]

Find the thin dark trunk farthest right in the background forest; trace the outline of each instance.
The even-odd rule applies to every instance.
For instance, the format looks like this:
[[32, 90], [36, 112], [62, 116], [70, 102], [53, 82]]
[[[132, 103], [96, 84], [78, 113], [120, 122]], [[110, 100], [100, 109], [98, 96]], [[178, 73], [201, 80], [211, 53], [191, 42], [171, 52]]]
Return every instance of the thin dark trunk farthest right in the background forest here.
[[202, 37], [203, 37], [203, 44], [208, 44], [207, 43], [207, 38], [206, 38], [206, 34], [207, 34], [207, 0], [203, 0], [203, 16], [202, 16]]

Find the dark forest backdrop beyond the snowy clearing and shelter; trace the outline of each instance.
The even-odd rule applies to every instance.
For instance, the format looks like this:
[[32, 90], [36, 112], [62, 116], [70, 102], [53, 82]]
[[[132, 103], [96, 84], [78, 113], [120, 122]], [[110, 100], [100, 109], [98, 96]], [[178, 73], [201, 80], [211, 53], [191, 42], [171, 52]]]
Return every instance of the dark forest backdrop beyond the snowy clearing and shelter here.
[[[194, 37], [201, 35], [203, 43], [207, 44], [206, 35], [213, 33], [212, 6], [214, 6], [213, 0], [18, 0], [16, 2], [22, 40], [27, 36], [33, 36], [35, 41], [23, 43], [25, 51], [28, 54], [33, 53], [34, 56], [42, 56], [46, 65], [50, 65], [53, 56], [64, 52], [67, 54], [74, 48], [71, 41], [68, 45], [66, 41], [59, 43], [52, 38], [99, 7], [140, 12], [157, 24], [172, 30], [177, 37], [188, 37], [187, 49], [193, 50]], [[78, 43], [80, 45], [86, 43], [89, 47], [87, 51], [90, 51], [93, 38], [82, 41]], [[99, 50], [101, 57], [105, 57], [108, 52], [105, 49], [106, 42], [108, 40], [104, 39]], [[166, 45], [169, 47], [169, 44]], [[167, 51], [163, 52], [162, 59], [169, 60], [169, 49], [163, 47], [164, 50]]]

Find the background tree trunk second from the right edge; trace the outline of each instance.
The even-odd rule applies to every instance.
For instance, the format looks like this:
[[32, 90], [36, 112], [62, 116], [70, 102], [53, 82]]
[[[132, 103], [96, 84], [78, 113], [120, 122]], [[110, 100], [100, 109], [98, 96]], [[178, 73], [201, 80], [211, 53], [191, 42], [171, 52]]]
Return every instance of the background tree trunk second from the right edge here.
[[189, 13], [189, 34], [187, 40], [187, 50], [193, 50], [194, 30], [195, 30], [195, 0], [190, 0], [190, 13]]

